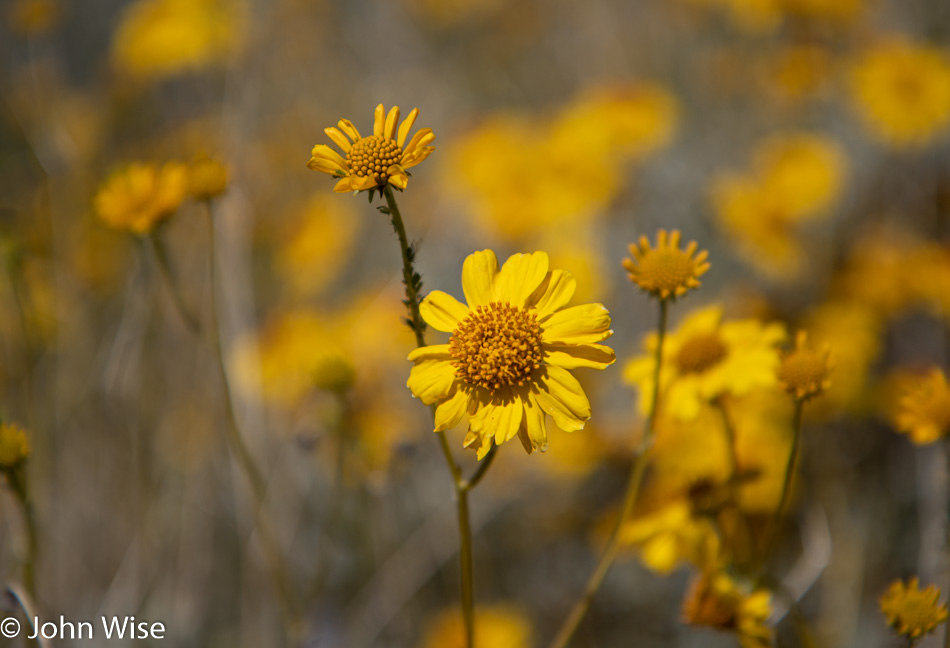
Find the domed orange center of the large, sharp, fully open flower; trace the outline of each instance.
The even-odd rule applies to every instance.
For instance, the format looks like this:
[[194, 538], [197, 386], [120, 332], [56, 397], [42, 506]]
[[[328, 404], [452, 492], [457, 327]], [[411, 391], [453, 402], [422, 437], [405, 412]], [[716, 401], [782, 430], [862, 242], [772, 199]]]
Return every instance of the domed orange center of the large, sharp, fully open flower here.
[[492, 302], [459, 322], [449, 340], [455, 375], [491, 393], [524, 385], [541, 366], [537, 315], [508, 302]]

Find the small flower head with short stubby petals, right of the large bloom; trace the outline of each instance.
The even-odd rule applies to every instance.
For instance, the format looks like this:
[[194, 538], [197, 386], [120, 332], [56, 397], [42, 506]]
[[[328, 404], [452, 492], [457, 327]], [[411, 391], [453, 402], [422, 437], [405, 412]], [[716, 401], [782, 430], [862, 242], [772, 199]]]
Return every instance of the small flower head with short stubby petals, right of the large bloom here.
[[667, 240], [666, 230], [656, 235], [656, 248], [650, 247], [646, 236], [639, 244], [630, 244], [632, 259], [624, 259], [623, 267], [630, 273], [630, 281], [659, 299], [675, 299], [699, 286], [699, 277], [709, 270], [703, 250], [696, 254], [696, 241], [690, 241], [685, 250], [679, 249], [680, 233], [673, 230]]

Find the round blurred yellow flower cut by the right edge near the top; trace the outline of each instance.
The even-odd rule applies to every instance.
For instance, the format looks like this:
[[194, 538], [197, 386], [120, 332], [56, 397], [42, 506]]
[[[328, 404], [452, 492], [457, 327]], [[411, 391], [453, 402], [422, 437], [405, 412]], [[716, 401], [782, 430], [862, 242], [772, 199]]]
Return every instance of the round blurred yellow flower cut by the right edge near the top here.
[[950, 63], [940, 49], [895, 38], [865, 51], [851, 78], [871, 133], [893, 147], [923, 146], [950, 125]]

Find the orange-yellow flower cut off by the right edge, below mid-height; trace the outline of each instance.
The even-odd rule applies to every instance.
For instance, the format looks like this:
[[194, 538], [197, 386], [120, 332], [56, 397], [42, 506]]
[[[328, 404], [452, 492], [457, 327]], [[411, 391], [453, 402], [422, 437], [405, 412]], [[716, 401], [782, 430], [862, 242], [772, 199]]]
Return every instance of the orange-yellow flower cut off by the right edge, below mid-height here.
[[950, 433], [950, 387], [943, 371], [935, 367], [909, 387], [894, 424], [917, 445], [933, 443]]

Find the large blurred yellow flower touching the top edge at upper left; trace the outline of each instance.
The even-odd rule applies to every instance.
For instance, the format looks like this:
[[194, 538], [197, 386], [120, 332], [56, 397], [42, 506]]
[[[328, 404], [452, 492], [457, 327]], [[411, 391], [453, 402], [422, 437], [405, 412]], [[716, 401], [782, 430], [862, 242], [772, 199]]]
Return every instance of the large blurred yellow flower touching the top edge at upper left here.
[[241, 0], [138, 0], [116, 31], [112, 60], [151, 80], [223, 63], [244, 46], [245, 12]]

